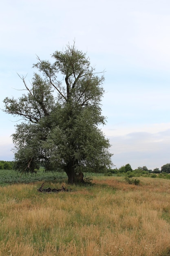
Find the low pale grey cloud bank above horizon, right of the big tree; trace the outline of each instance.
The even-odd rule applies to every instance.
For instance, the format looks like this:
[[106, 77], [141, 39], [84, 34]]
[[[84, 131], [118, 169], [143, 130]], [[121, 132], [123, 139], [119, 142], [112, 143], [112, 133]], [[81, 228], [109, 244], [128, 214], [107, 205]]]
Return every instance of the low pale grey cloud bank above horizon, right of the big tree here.
[[155, 130], [155, 133], [133, 132], [110, 136], [111, 151], [114, 154], [113, 163], [116, 167], [129, 163], [133, 169], [147, 166], [148, 169], [153, 170], [169, 163], [170, 129], [163, 132], [158, 130], [157, 132]]

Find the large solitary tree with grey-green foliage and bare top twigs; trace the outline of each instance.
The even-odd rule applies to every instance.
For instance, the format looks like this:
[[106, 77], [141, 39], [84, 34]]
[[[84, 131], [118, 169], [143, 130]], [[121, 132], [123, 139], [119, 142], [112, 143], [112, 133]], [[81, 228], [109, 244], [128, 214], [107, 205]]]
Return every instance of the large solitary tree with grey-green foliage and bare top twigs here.
[[39, 74], [34, 74], [30, 87], [20, 76], [27, 94], [5, 98], [4, 112], [24, 120], [12, 135], [15, 169], [34, 172], [41, 161], [46, 170], [64, 170], [72, 184], [84, 168], [112, 166], [110, 143], [98, 128], [106, 121], [101, 110], [104, 76], [95, 73], [75, 44], [52, 57], [53, 63], [37, 57], [33, 67]]

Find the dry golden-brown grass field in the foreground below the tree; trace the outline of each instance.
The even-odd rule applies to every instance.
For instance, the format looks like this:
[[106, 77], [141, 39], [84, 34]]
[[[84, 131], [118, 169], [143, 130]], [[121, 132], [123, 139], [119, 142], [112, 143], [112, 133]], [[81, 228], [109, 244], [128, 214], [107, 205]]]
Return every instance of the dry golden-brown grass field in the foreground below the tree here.
[[3, 181], [0, 256], [170, 255], [170, 180], [139, 180], [139, 186], [106, 176], [93, 177], [93, 186], [68, 186], [64, 177], [45, 182], [69, 189], [60, 193], [38, 192], [42, 180]]

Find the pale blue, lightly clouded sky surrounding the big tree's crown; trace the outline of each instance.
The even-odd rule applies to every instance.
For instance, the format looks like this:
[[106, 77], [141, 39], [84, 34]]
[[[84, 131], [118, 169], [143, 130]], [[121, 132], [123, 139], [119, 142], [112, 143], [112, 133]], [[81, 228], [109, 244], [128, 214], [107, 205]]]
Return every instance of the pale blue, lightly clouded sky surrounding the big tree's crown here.
[[[0, 8], [0, 108], [21, 96], [32, 66], [69, 43], [105, 70], [102, 126], [113, 164], [170, 163], [169, 0], [6, 0]], [[18, 74], [17, 74], [18, 73]], [[0, 160], [13, 160], [17, 118], [0, 110]]]

